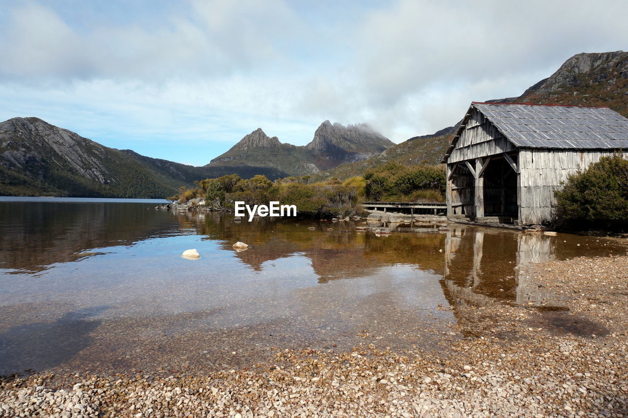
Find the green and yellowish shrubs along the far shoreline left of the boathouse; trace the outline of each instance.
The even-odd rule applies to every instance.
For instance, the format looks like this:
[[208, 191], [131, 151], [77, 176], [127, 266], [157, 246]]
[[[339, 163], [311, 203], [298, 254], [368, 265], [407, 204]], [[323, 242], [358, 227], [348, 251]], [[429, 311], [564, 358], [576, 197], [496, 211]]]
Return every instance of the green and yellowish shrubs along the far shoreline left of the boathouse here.
[[[445, 172], [441, 167], [416, 165], [406, 167], [388, 162], [364, 177], [355, 176], [341, 182], [310, 183], [310, 176], [286, 177], [271, 182], [264, 175], [241, 179], [236, 174], [195, 182], [196, 187], [181, 187], [168, 200], [198, 204], [215, 211], [232, 211], [234, 202], [249, 205], [271, 201], [296, 205], [303, 216], [344, 217], [362, 211], [360, 203], [372, 200], [442, 202]], [[200, 199], [199, 199], [200, 198]]]

